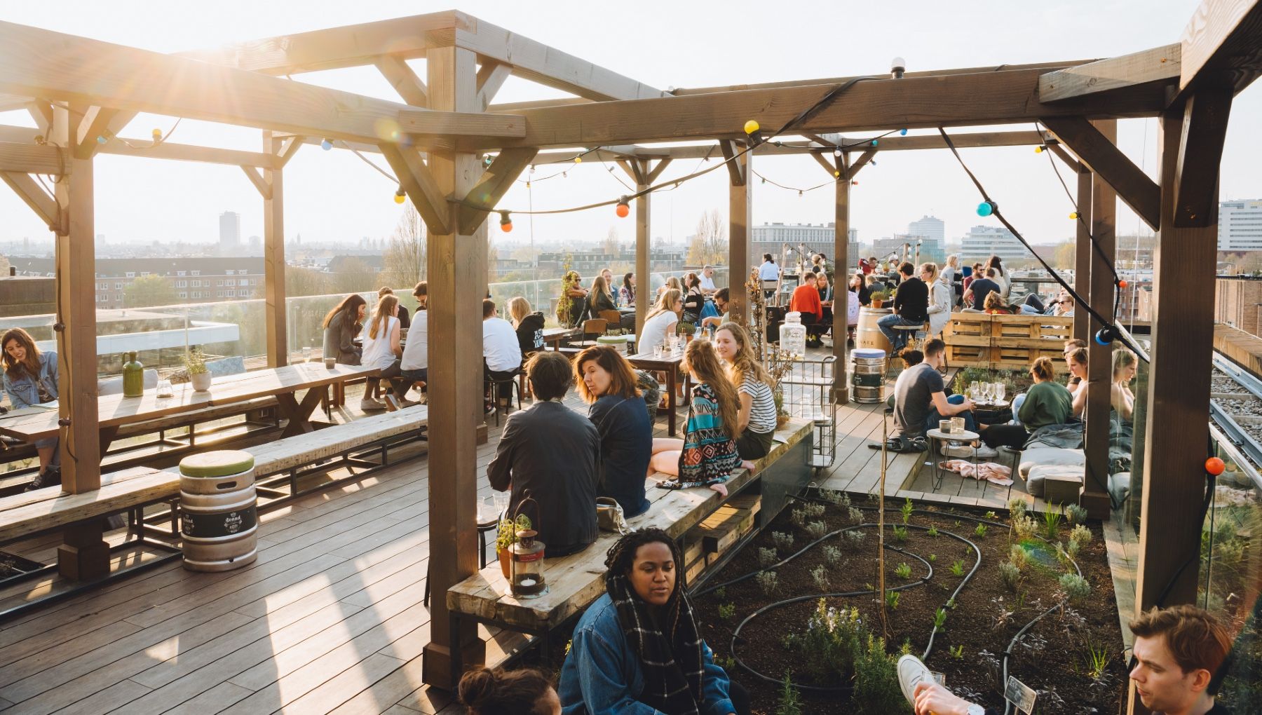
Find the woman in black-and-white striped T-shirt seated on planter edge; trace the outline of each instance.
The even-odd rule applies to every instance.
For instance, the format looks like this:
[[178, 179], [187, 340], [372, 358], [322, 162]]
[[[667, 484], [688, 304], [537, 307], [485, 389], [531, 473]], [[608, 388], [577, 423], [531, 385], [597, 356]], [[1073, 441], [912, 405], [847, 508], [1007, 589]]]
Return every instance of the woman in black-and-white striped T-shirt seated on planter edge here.
[[741, 459], [758, 459], [771, 451], [776, 431], [776, 397], [771, 375], [758, 363], [750, 335], [737, 323], [723, 323], [714, 332], [714, 347], [728, 364], [728, 377], [741, 398], [736, 419], [736, 450]]

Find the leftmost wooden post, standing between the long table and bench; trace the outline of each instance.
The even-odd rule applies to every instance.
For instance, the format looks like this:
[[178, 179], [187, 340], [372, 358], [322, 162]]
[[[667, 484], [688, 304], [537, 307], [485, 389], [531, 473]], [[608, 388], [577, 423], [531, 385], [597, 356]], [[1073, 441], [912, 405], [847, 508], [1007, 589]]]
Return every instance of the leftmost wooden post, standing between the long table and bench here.
[[[82, 494], [101, 488], [101, 441], [96, 411], [96, 231], [92, 159], [76, 159], [78, 117], [88, 106], [57, 106], [52, 139], [64, 146], [69, 175], [57, 182], [57, 369], [59, 382], [62, 489]], [[96, 141], [96, 137], [86, 139]], [[57, 549], [68, 579], [95, 579], [110, 569], [101, 522], [69, 527]]]

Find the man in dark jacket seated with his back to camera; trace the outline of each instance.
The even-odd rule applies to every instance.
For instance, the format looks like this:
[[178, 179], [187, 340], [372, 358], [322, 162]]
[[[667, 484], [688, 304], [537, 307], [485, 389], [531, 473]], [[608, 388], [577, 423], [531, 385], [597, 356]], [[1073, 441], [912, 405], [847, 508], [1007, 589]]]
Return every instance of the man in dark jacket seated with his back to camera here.
[[495, 491], [511, 493], [510, 514], [533, 497], [521, 513], [530, 517], [546, 556], [565, 556], [597, 537], [601, 435], [591, 420], [562, 404], [574, 381], [565, 356], [536, 353], [526, 363], [526, 377], [535, 404], [509, 416], [486, 477]]

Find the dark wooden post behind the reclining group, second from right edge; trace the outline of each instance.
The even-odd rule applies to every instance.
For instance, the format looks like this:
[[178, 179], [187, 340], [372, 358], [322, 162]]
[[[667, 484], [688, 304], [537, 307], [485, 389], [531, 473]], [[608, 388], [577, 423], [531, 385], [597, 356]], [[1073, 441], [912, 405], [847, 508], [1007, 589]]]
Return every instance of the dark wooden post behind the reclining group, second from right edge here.
[[[1097, 129], [1109, 140], [1117, 140], [1117, 120], [1095, 122]], [[1090, 304], [1104, 318], [1113, 315], [1113, 264], [1117, 216], [1117, 192], [1099, 174], [1092, 177], [1092, 236], [1099, 247], [1097, 252], [1088, 247], [1092, 265]], [[1103, 257], [1100, 256], [1103, 255]], [[1074, 311], [1076, 315], [1076, 310]], [[1085, 313], [1085, 310], [1084, 310]], [[1092, 320], [1088, 328], [1094, 335], [1100, 329], [1098, 320]], [[1079, 503], [1087, 508], [1092, 518], [1108, 518], [1108, 425], [1109, 397], [1113, 385], [1113, 356], [1108, 347], [1092, 344], [1087, 358], [1087, 433], [1084, 448], [1087, 451], [1087, 473]]]

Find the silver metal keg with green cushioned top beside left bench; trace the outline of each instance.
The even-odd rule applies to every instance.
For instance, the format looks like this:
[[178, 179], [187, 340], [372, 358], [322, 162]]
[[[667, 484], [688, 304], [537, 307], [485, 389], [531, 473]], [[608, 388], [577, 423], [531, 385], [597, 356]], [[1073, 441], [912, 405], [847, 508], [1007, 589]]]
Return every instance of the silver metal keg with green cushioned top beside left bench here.
[[254, 562], [259, 517], [254, 455], [217, 450], [179, 463], [179, 521], [184, 567], [227, 571]]

